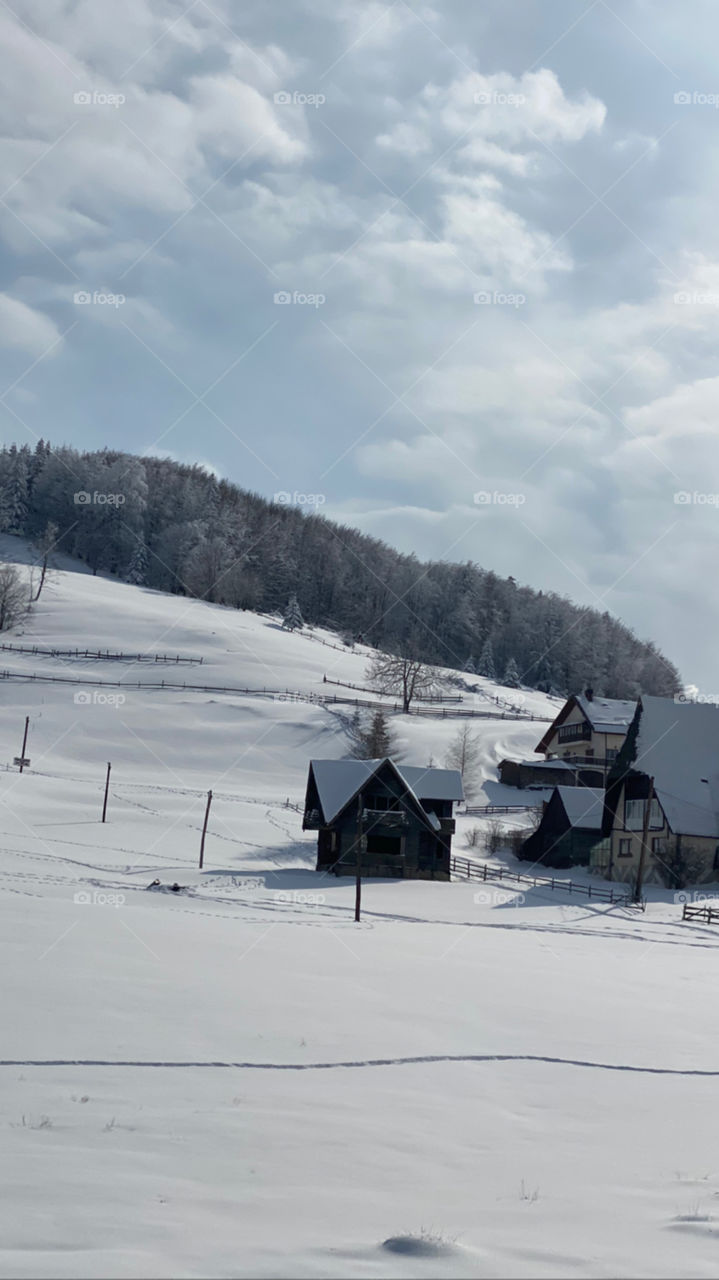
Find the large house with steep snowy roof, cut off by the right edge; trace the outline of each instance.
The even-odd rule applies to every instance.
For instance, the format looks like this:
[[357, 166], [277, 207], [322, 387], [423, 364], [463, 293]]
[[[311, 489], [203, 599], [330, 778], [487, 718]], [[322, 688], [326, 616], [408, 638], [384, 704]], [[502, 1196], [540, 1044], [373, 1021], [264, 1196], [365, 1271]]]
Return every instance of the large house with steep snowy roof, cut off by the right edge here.
[[591, 865], [609, 879], [636, 883], [642, 849], [644, 883], [682, 888], [719, 879], [719, 708], [713, 703], [649, 696], [637, 703], [608, 780], [603, 841]]

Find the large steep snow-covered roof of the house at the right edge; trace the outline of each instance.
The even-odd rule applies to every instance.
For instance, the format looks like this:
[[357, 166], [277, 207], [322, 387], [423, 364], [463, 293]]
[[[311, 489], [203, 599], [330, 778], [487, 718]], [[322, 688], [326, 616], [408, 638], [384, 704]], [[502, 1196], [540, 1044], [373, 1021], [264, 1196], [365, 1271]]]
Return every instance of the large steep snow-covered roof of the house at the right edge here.
[[674, 835], [719, 837], [719, 708], [642, 698], [632, 768], [654, 778]]

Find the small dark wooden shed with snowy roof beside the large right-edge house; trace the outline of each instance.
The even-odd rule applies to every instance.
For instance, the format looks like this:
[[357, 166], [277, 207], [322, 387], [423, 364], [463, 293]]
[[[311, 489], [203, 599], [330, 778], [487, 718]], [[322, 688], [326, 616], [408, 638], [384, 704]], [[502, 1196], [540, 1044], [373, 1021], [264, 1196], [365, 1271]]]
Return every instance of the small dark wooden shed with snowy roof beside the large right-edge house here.
[[603, 787], [555, 787], [518, 856], [545, 867], [587, 867], [601, 840]]

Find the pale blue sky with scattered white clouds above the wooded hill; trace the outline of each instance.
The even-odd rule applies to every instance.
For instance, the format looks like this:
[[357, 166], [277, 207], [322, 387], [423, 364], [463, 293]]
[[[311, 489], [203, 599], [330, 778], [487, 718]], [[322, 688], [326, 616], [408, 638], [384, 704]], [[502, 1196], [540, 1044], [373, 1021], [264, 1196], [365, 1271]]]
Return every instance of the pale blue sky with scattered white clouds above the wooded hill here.
[[13, 0], [0, 433], [609, 611], [719, 696], [714, 0]]

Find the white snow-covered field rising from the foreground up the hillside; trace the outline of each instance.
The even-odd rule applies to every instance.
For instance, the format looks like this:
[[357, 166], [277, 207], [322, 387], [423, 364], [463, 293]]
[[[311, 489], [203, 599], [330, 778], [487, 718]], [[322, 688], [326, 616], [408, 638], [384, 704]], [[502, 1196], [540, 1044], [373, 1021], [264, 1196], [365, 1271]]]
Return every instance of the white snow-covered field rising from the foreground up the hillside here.
[[[367, 662], [77, 572], [22, 630], [8, 639], [203, 658], [0, 655], [88, 680], [179, 669], [308, 696], [324, 675], [363, 684]], [[0, 769], [3, 1275], [716, 1275], [716, 929], [670, 895], [642, 915], [377, 881], [356, 925], [354, 886], [312, 870], [293, 808], [308, 759], [344, 753], [335, 713], [86, 691], [0, 682], [0, 764], [26, 714], [32, 762]], [[457, 730], [394, 723], [418, 764]], [[516, 801], [494, 765], [542, 724], [473, 727], [477, 799]]]

